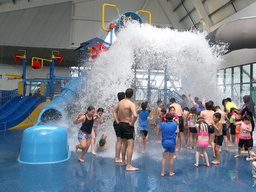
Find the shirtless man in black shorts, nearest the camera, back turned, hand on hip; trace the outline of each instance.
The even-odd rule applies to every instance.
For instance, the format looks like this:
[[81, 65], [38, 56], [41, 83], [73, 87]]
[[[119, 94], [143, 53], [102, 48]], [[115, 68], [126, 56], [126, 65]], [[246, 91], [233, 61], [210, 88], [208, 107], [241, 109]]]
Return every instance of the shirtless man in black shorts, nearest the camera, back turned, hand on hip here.
[[[114, 109], [113, 115], [117, 124], [119, 124], [120, 135], [122, 138], [122, 163], [121, 166], [126, 165], [126, 171], [136, 171], [139, 170], [132, 166], [132, 153], [134, 150], [134, 123], [137, 120], [137, 112], [135, 104], [131, 102], [134, 91], [129, 88], [125, 91], [125, 96], [123, 100], [118, 102]], [[127, 162], [125, 161], [127, 151]]]

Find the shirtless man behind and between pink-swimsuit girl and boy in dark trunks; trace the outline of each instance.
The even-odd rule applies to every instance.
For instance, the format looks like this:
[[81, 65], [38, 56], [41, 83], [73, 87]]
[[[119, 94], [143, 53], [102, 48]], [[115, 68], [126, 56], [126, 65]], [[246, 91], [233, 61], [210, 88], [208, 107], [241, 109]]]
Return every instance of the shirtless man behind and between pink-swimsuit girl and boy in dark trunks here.
[[206, 110], [201, 111], [200, 116], [204, 118], [206, 123], [208, 124], [208, 132], [209, 132], [209, 141], [211, 144], [211, 148], [213, 151], [213, 157], [215, 157], [215, 151], [214, 151], [214, 138], [215, 138], [215, 133], [214, 133], [214, 127], [211, 125], [211, 122], [213, 121], [213, 114], [214, 111], [212, 111], [212, 103], [211, 102], [206, 102], [205, 103], [205, 108]]

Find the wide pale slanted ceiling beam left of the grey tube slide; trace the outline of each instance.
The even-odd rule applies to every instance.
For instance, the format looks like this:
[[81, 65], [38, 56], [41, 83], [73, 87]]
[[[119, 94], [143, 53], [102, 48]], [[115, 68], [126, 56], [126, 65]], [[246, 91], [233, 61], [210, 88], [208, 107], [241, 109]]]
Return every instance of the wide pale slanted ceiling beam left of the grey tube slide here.
[[197, 9], [197, 13], [201, 20], [204, 20], [205, 28], [210, 33], [210, 28], [212, 26], [212, 22], [210, 18], [208, 17], [208, 13], [206, 9], [204, 8], [204, 5], [202, 4], [201, 0], [192, 0], [195, 8]]

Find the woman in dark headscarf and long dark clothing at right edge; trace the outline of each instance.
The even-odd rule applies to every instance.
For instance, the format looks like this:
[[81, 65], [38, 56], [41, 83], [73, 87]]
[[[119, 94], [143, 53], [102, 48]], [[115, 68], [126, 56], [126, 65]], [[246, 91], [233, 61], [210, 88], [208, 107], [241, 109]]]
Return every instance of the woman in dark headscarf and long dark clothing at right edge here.
[[[240, 110], [235, 109], [234, 112], [237, 114], [241, 114], [242, 118], [249, 115], [250, 119], [251, 119], [251, 124], [252, 124], [252, 131], [254, 131], [253, 117], [255, 118], [255, 110], [254, 110], [254, 103], [252, 101], [252, 96], [250, 96], [250, 95], [243, 96], [243, 102], [245, 104], [243, 104], [241, 109]], [[252, 135], [252, 132], [250, 134]]]

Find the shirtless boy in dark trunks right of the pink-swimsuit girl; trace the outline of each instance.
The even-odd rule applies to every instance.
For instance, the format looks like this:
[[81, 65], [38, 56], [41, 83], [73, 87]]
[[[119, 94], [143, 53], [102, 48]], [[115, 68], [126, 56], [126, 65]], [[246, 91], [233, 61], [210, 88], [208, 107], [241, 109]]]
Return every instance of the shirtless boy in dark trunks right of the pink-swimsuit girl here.
[[211, 163], [219, 164], [220, 163], [219, 149], [221, 148], [223, 143], [221, 114], [219, 112], [213, 114], [213, 121], [211, 122], [211, 125], [214, 127], [214, 131], [215, 131], [215, 139], [214, 139], [215, 160], [211, 161]]

